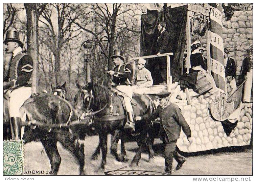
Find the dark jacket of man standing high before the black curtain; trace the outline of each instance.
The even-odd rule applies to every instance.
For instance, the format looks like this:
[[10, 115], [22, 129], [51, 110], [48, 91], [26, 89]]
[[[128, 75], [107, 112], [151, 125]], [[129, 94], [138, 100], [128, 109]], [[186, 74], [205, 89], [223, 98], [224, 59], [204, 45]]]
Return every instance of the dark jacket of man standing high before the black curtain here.
[[167, 32], [167, 30], [165, 30], [158, 37], [157, 45], [156, 45], [156, 53], [161, 52], [161, 54], [162, 54], [162, 53], [169, 52], [168, 42], [169, 42], [169, 33]]

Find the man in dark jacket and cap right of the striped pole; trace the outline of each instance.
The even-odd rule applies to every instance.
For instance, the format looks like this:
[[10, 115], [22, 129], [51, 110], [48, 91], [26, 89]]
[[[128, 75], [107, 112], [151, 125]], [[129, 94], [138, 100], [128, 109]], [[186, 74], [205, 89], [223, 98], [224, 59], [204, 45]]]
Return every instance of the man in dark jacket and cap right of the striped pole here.
[[235, 61], [228, 57], [229, 50], [224, 48], [224, 67], [225, 67], [225, 76], [232, 76], [233, 79], [236, 77], [236, 64]]

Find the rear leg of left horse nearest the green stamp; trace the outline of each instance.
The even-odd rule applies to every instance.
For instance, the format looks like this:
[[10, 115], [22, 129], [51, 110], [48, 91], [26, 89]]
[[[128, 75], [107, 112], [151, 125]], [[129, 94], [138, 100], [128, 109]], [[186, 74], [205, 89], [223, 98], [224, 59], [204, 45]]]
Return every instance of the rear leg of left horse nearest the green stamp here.
[[57, 172], [59, 171], [59, 167], [61, 164], [61, 156], [57, 149], [57, 141], [51, 140], [51, 139], [42, 140], [42, 144], [50, 160], [51, 171], [54, 172], [54, 173], [51, 173], [51, 175], [57, 175]]

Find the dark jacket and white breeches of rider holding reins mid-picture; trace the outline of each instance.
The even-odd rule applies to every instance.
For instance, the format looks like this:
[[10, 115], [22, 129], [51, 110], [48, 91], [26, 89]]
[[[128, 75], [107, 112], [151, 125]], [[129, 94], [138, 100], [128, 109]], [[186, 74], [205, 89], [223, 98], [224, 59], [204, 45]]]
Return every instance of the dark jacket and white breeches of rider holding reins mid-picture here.
[[133, 97], [132, 90], [132, 77], [133, 70], [130, 64], [122, 64], [114, 68], [115, 74], [113, 75], [112, 82], [115, 83], [116, 89], [125, 93], [124, 104], [127, 112], [133, 112], [131, 99]]

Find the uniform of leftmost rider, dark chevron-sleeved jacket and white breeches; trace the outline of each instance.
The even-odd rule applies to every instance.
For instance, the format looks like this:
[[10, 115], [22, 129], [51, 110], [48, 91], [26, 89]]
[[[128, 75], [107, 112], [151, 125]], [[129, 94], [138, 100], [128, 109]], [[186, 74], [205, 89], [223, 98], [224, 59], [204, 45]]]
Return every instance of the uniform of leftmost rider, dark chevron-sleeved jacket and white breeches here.
[[9, 69], [4, 81], [13, 81], [14, 86], [9, 90], [10, 97], [9, 115], [10, 117], [21, 117], [20, 107], [31, 96], [31, 74], [33, 71], [32, 58], [22, 53], [21, 47], [18, 47], [9, 63]]

